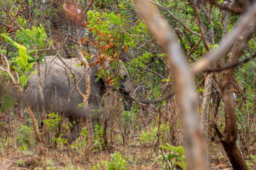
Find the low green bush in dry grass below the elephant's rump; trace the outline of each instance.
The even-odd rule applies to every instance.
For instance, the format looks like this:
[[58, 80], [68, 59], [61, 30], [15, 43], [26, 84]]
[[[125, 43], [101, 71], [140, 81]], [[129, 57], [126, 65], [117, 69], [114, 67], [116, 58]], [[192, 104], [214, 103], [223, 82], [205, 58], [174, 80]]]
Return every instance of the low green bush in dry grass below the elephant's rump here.
[[21, 150], [31, 149], [35, 146], [34, 130], [26, 125], [21, 125], [20, 135], [16, 137]]

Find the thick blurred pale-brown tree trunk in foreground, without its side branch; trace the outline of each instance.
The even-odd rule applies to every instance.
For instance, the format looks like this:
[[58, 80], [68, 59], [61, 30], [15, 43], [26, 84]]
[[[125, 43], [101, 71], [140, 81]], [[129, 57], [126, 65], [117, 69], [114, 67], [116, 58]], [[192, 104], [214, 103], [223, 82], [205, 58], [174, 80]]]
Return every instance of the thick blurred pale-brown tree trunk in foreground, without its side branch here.
[[180, 55], [180, 48], [166, 20], [157, 14], [148, 0], [136, 0], [135, 3], [142, 18], [148, 24], [149, 30], [166, 47], [169, 56], [168, 59], [176, 82], [176, 92], [184, 127], [188, 169], [207, 169], [204, 141], [196, 112], [196, 96], [192, 74], [184, 58]]

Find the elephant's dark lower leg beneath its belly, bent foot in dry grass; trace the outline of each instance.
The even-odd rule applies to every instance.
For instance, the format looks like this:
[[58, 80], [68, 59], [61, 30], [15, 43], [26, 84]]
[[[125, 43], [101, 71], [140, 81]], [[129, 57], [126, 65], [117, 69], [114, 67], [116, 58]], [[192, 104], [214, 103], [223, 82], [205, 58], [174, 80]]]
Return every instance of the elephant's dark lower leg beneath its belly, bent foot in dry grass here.
[[68, 144], [72, 144], [72, 142], [79, 137], [78, 134], [81, 132], [81, 120], [77, 116], [69, 116], [68, 119], [69, 122], [72, 122], [72, 127], [70, 130], [70, 134], [64, 135], [64, 137], [68, 139]]

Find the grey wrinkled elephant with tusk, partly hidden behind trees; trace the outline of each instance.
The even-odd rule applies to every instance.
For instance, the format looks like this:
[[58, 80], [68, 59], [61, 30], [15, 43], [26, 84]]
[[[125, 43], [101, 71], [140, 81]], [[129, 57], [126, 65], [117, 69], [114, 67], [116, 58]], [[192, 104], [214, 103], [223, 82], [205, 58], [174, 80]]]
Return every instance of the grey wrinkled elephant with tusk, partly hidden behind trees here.
[[[94, 55], [92, 55], [92, 57], [94, 57]], [[86, 86], [84, 78], [84, 67], [76, 67], [76, 65], [79, 65], [81, 62], [80, 59], [71, 58], [63, 60], [68, 63], [69, 66], [71, 66], [73, 72], [75, 73], [76, 82], [79, 88], [82, 92], [85, 92]], [[46, 64], [40, 64], [40, 77], [44, 94], [45, 109], [55, 110], [60, 114], [64, 114], [69, 118], [70, 122], [73, 122], [71, 133], [65, 135], [65, 137], [68, 139], [68, 143], [72, 144], [72, 142], [76, 140], [78, 134], [81, 131], [79, 128], [79, 123], [74, 122], [80, 122], [78, 119], [83, 118], [84, 113], [82, 108], [77, 107], [83, 102], [83, 100], [76, 89], [72, 91], [75, 85], [73, 83], [73, 78], [70, 76], [71, 72], [66, 67], [66, 65], [64, 65], [56, 56], [46, 56], [45, 61]], [[124, 63], [121, 60], [119, 60], [119, 63], [118, 72], [122, 76], [122, 78], [119, 80], [119, 91], [122, 93], [124, 99], [124, 110], [130, 111], [132, 107], [132, 100], [129, 98], [129, 95], [132, 94], [132, 85]], [[100, 99], [103, 95], [102, 90], [106, 88], [105, 82], [101, 78], [98, 81], [95, 81], [98, 78], [96, 74], [98, 73], [99, 68], [100, 64], [89, 68], [91, 94], [88, 102], [90, 110], [96, 110], [96, 113], [98, 113], [98, 109], [100, 109]], [[37, 70], [36, 67], [35, 70]], [[80, 79], [81, 81], [79, 82]], [[71, 97], [69, 96], [70, 93], [72, 93]], [[28, 80], [27, 86], [25, 87], [25, 96], [30, 103], [30, 106], [37, 106], [40, 112], [42, 101], [38, 87], [37, 74], [33, 74], [33, 76]], [[99, 120], [100, 114], [98, 113], [95, 115], [94, 112], [92, 117], [93, 122], [97, 122]]]

